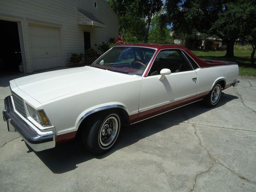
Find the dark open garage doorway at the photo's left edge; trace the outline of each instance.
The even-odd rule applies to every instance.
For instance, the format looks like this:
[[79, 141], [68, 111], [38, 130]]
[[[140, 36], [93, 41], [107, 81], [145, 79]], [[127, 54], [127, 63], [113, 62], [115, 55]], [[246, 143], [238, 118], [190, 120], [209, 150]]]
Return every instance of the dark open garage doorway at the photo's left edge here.
[[23, 72], [17, 22], [0, 20], [0, 71]]

